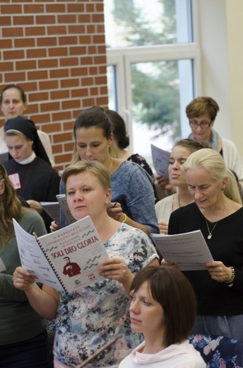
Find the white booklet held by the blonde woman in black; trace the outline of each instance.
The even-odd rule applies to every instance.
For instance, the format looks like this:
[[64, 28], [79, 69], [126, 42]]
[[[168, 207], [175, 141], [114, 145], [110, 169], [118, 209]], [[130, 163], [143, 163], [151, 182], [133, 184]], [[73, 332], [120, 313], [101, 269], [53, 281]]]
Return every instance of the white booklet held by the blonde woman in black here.
[[150, 234], [162, 257], [179, 265], [181, 271], [206, 270], [204, 263], [213, 262], [201, 230], [184, 234]]

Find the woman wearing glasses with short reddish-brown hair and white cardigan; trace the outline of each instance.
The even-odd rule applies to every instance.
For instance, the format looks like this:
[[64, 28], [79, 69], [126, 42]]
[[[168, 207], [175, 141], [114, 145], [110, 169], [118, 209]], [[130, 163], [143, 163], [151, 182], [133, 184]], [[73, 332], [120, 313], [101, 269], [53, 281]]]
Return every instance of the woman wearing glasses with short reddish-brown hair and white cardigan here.
[[213, 129], [219, 109], [218, 103], [211, 97], [194, 98], [186, 106], [186, 116], [189, 118], [191, 127], [189, 139], [208, 142], [215, 151], [223, 156], [227, 168], [235, 171], [239, 183], [243, 184], [243, 163], [235, 143], [220, 137], [218, 132]]

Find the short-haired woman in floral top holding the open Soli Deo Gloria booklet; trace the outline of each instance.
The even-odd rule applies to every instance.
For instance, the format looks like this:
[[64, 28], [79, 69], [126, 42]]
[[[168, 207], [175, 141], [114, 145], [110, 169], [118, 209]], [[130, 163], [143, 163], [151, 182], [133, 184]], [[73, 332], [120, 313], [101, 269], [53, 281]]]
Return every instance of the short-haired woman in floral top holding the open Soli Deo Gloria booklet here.
[[141, 335], [131, 333], [129, 292], [134, 274], [146, 265], [158, 265], [158, 255], [143, 231], [117, 222], [107, 214], [111, 198], [109, 171], [98, 161], [79, 161], [66, 168], [62, 179], [73, 217], [90, 216], [109, 258], [100, 266], [104, 280], [70, 294], [57, 292], [35, 280], [23, 268], [13, 282], [25, 291], [30, 304], [45, 318], [56, 318], [54, 367], [76, 367], [112, 338], [121, 335], [110, 350], [93, 361], [97, 367], [118, 364]]

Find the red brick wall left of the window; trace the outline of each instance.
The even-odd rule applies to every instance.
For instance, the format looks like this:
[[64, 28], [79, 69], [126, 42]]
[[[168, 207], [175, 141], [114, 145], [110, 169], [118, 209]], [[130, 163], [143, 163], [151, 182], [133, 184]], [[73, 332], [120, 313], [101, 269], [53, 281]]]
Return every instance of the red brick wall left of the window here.
[[76, 116], [108, 103], [103, 1], [1, 1], [0, 71], [1, 89], [24, 89], [25, 116], [49, 134], [56, 168], [65, 168]]

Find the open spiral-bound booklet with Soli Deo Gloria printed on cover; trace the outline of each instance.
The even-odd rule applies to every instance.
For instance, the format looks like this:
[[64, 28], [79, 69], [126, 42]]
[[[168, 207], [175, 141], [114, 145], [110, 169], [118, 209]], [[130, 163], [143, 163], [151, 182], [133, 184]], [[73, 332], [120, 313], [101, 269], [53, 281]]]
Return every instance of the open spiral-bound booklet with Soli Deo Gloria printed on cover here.
[[53, 233], [28, 234], [13, 219], [21, 265], [36, 282], [74, 292], [104, 280], [97, 268], [109, 258], [89, 216]]

